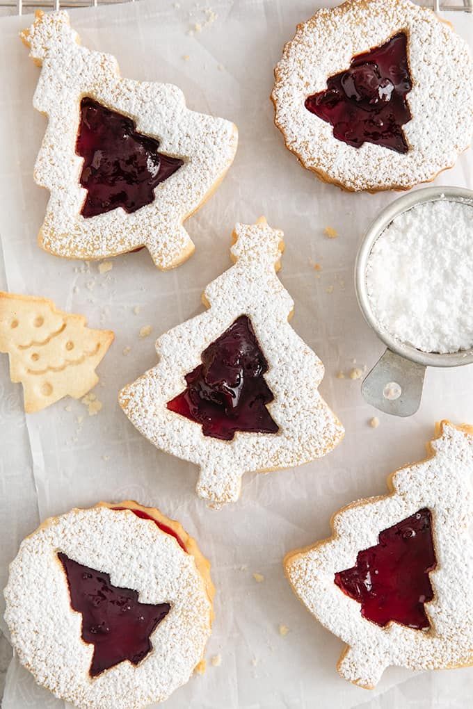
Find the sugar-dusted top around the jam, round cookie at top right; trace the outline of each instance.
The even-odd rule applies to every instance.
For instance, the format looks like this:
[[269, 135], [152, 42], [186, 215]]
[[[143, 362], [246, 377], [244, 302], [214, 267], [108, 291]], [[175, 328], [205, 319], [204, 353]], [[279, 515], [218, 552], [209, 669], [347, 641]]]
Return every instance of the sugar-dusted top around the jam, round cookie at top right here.
[[[412, 120], [403, 126], [408, 152], [337, 140], [330, 123], [306, 110], [306, 97], [399, 31], [408, 35], [413, 80], [406, 96]], [[286, 44], [275, 69], [275, 122], [289, 150], [321, 179], [355, 191], [408, 189], [452, 167], [471, 143], [472, 75], [466, 43], [430, 9], [410, 0], [352, 0], [319, 10]]]

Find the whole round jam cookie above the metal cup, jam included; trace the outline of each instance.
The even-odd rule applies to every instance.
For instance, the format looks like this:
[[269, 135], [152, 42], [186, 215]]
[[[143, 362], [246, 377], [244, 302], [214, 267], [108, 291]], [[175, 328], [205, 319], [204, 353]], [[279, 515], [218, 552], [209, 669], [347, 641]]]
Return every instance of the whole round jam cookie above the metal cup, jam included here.
[[472, 141], [467, 44], [410, 0], [319, 10], [297, 27], [274, 74], [286, 147], [344, 189], [430, 182]]

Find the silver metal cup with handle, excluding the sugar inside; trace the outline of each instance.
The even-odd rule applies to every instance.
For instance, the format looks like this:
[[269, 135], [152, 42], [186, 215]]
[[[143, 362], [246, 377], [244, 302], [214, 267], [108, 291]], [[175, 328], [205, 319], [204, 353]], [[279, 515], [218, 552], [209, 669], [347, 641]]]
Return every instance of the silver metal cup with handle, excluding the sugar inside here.
[[366, 270], [374, 242], [399, 214], [418, 204], [439, 199], [466, 202], [473, 206], [473, 191], [462, 187], [425, 187], [396, 199], [369, 226], [355, 264], [355, 290], [361, 311], [368, 325], [386, 345], [386, 352], [362, 382], [362, 395], [379, 411], [396, 416], [411, 416], [418, 410], [425, 367], [460, 367], [473, 362], [473, 348], [438, 354], [422, 352], [401, 342], [378, 323], [369, 303]]

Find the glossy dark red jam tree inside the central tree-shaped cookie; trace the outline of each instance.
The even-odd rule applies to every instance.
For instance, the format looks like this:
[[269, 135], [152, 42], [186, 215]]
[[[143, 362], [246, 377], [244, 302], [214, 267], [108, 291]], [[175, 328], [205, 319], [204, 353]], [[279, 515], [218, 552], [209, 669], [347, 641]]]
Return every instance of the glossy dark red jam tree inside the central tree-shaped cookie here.
[[202, 364], [186, 375], [187, 388], [167, 408], [202, 426], [204, 436], [232, 440], [236, 431], [277, 433], [266, 404], [273, 400], [268, 366], [243, 315], [208, 345]]

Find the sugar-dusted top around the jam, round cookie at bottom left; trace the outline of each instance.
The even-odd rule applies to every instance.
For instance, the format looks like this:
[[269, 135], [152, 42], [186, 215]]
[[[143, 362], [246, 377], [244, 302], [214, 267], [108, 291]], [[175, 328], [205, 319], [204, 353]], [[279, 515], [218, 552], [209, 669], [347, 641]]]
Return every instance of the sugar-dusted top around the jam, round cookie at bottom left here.
[[[93, 646], [81, 638], [57, 552], [106, 571], [142, 603], [171, 605], [151, 635], [152, 652], [89, 676]], [[154, 522], [106, 507], [48, 520], [21, 544], [5, 589], [5, 619], [21, 662], [36, 681], [80, 709], [142, 709], [187, 682], [210, 635], [211, 602], [194, 557]]]

